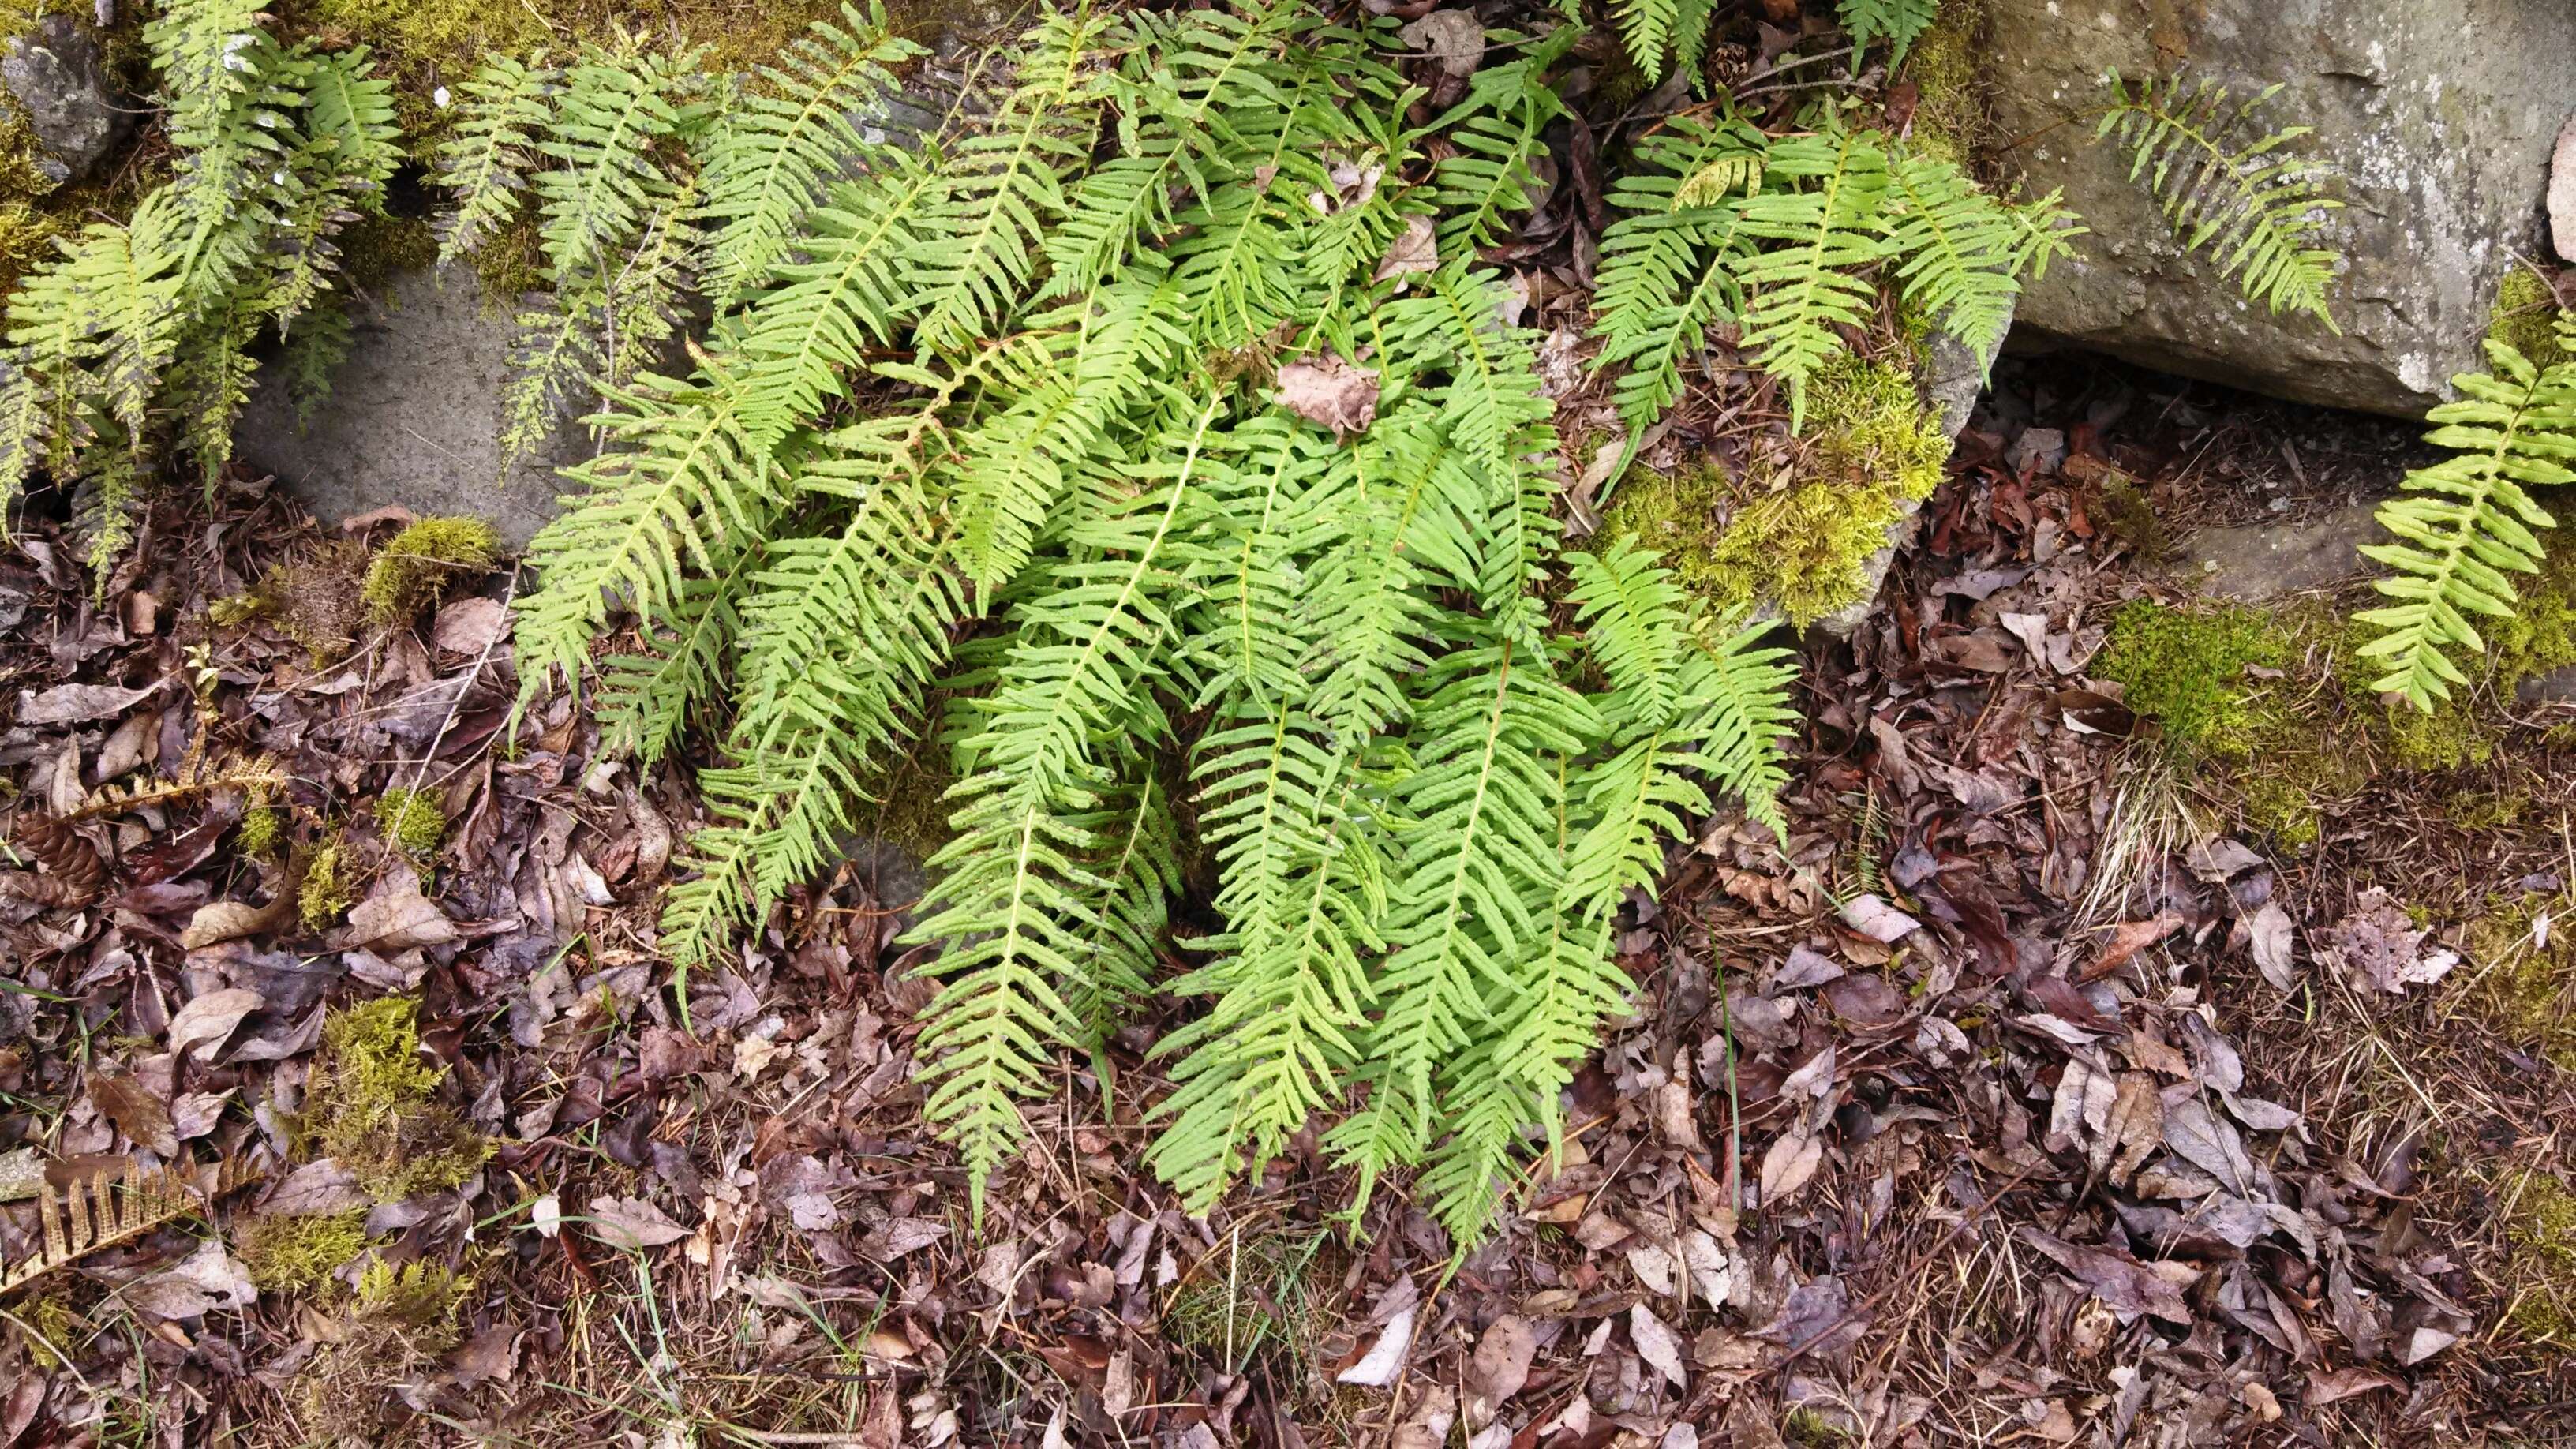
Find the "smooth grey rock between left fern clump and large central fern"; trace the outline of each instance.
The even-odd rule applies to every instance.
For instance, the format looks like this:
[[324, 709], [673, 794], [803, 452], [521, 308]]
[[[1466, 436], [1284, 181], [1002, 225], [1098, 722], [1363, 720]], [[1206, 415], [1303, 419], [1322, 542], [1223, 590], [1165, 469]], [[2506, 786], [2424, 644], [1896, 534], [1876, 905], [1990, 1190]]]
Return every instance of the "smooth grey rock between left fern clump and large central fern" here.
[[500, 467], [510, 320], [471, 271], [404, 271], [358, 302], [355, 345], [332, 371], [312, 428], [296, 428], [278, 369], [242, 413], [240, 456], [273, 472], [314, 516], [340, 521], [386, 505], [469, 513], [526, 547], [549, 518], [554, 469], [587, 456], [564, 425], [538, 456]]

